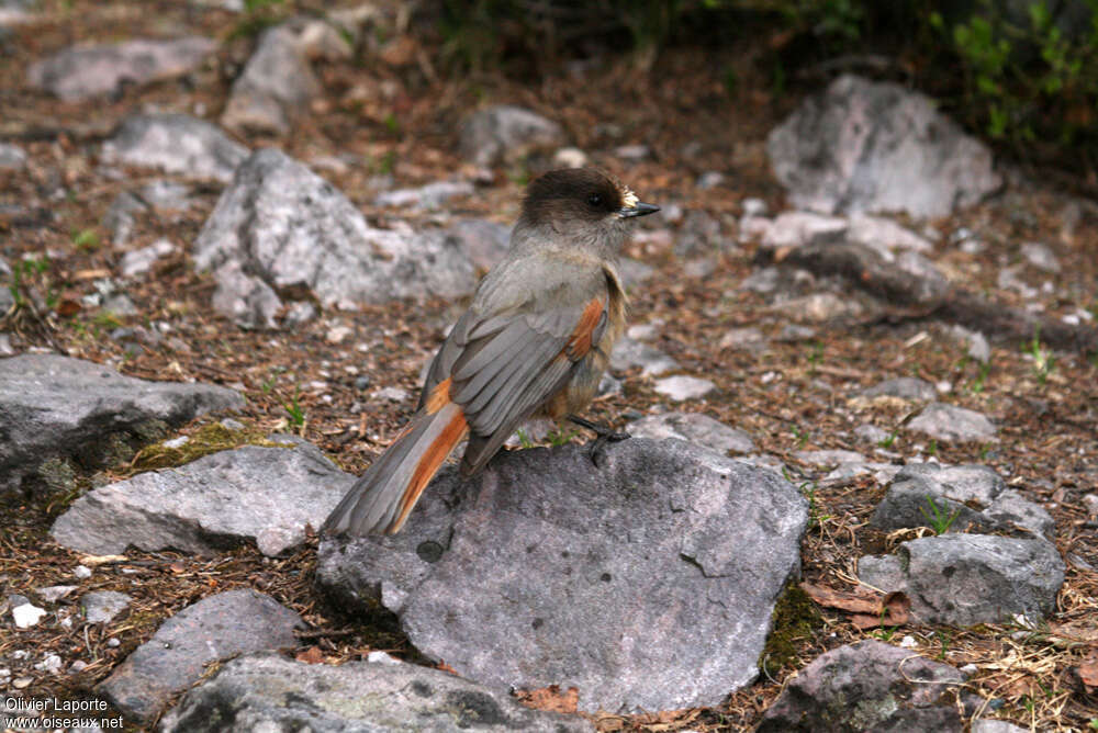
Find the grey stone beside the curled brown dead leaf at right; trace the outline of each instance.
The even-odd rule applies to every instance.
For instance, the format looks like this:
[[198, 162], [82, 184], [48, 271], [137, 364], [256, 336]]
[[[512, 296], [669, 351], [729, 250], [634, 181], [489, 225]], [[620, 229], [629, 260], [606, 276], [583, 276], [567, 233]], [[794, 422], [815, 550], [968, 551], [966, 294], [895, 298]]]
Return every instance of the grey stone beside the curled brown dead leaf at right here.
[[1064, 582], [1064, 561], [1043, 539], [942, 534], [900, 544], [896, 556], [859, 561], [859, 579], [911, 599], [921, 623], [996, 623], [1021, 613], [1052, 613]]

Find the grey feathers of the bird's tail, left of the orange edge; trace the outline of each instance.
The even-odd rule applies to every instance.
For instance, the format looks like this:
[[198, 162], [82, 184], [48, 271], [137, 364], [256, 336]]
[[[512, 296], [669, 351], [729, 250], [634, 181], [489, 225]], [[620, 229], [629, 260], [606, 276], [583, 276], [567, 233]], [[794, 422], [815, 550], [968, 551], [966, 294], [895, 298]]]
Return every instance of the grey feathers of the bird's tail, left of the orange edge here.
[[[410, 427], [367, 469], [321, 527], [323, 534], [395, 532], [401, 501], [416, 465], [451, 417], [450, 406], [428, 415], [421, 410]], [[456, 406], [455, 406], [456, 407]]]

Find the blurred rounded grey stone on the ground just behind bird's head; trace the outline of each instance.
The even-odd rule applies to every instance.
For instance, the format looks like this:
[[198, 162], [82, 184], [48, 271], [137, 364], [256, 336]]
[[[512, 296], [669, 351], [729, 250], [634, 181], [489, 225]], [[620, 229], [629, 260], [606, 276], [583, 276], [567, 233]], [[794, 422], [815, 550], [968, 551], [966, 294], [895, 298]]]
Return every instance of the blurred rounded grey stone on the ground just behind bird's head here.
[[560, 147], [561, 126], [509, 104], [479, 110], [461, 125], [461, 155], [478, 166], [514, 162], [537, 149]]

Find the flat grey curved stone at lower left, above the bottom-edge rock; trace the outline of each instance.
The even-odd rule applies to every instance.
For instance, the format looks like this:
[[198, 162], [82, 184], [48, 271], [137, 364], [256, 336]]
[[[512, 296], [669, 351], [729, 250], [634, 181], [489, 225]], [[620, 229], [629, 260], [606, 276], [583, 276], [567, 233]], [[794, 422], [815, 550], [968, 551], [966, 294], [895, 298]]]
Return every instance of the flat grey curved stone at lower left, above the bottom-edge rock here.
[[96, 691], [127, 718], [149, 723], [211, 662], [296, 646], [299, 625], [300, 616], [250, 588], [210, 596], [160, 624]]

